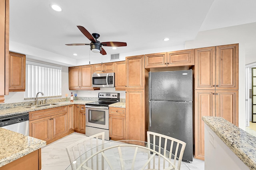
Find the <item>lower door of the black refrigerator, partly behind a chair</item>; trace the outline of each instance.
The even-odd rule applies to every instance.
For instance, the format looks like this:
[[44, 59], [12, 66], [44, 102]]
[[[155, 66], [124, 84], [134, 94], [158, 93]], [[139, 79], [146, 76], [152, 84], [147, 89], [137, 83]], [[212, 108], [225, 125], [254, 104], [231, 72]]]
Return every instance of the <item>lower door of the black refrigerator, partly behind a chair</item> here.
[[183, 160], [193, 159], [192, 102], [150, 101], [149, 131], [186, 143]]

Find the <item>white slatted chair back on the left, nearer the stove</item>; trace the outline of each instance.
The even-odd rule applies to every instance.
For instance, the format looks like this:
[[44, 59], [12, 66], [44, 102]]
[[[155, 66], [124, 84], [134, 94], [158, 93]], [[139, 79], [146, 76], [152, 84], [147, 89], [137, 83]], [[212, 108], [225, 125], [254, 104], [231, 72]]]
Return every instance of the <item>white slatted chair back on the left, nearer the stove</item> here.
[[92, 153], [88, 153], [87, 152], [88, 150], [94, 147], [97, 147], [98, 145], [104, 144], [104, 137], [105, 137], [104, 132], [97, 133], [95, 135], [86, 137], [66, 147], [70, 164], [72, 164], [71, 165], [72, 170], [75, 170], [76, 168], [78, 168], [81, 162], [83, 162], [83, 160], [85, 160], [87, 156], [90, 156], [90, 154], [92, 154]]

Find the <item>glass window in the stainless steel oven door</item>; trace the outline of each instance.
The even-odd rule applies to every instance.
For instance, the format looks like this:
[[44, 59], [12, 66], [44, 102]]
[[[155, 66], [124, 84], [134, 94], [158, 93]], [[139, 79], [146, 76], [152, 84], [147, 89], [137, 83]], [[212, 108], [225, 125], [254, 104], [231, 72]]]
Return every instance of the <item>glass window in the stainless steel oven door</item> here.
[[88, 110], [88, 122], [106, 125], [106, 111]]

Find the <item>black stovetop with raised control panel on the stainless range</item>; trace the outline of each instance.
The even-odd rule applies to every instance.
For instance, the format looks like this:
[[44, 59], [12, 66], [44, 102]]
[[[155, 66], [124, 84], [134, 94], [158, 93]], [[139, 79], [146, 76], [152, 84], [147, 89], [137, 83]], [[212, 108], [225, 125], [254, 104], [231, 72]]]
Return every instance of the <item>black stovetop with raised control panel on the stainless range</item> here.
[[114, 104], [120, 102], [120, 94], [119, 93], [102, 93], [98, 94], [98, 101], [90, 102], [85, 104], [86, 106], [105, 106], [108, 107], [110, 104]]

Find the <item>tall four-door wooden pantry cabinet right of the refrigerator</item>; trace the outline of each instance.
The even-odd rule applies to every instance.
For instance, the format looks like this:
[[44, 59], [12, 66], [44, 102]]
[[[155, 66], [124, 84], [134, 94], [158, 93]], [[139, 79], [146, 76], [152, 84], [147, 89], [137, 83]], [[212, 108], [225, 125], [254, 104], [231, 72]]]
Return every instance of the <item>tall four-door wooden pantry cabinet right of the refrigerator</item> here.
[[195, 49], [195, 158], [204, 160], [202, 116], [223, 117], [238, 126], [238, 44]]

